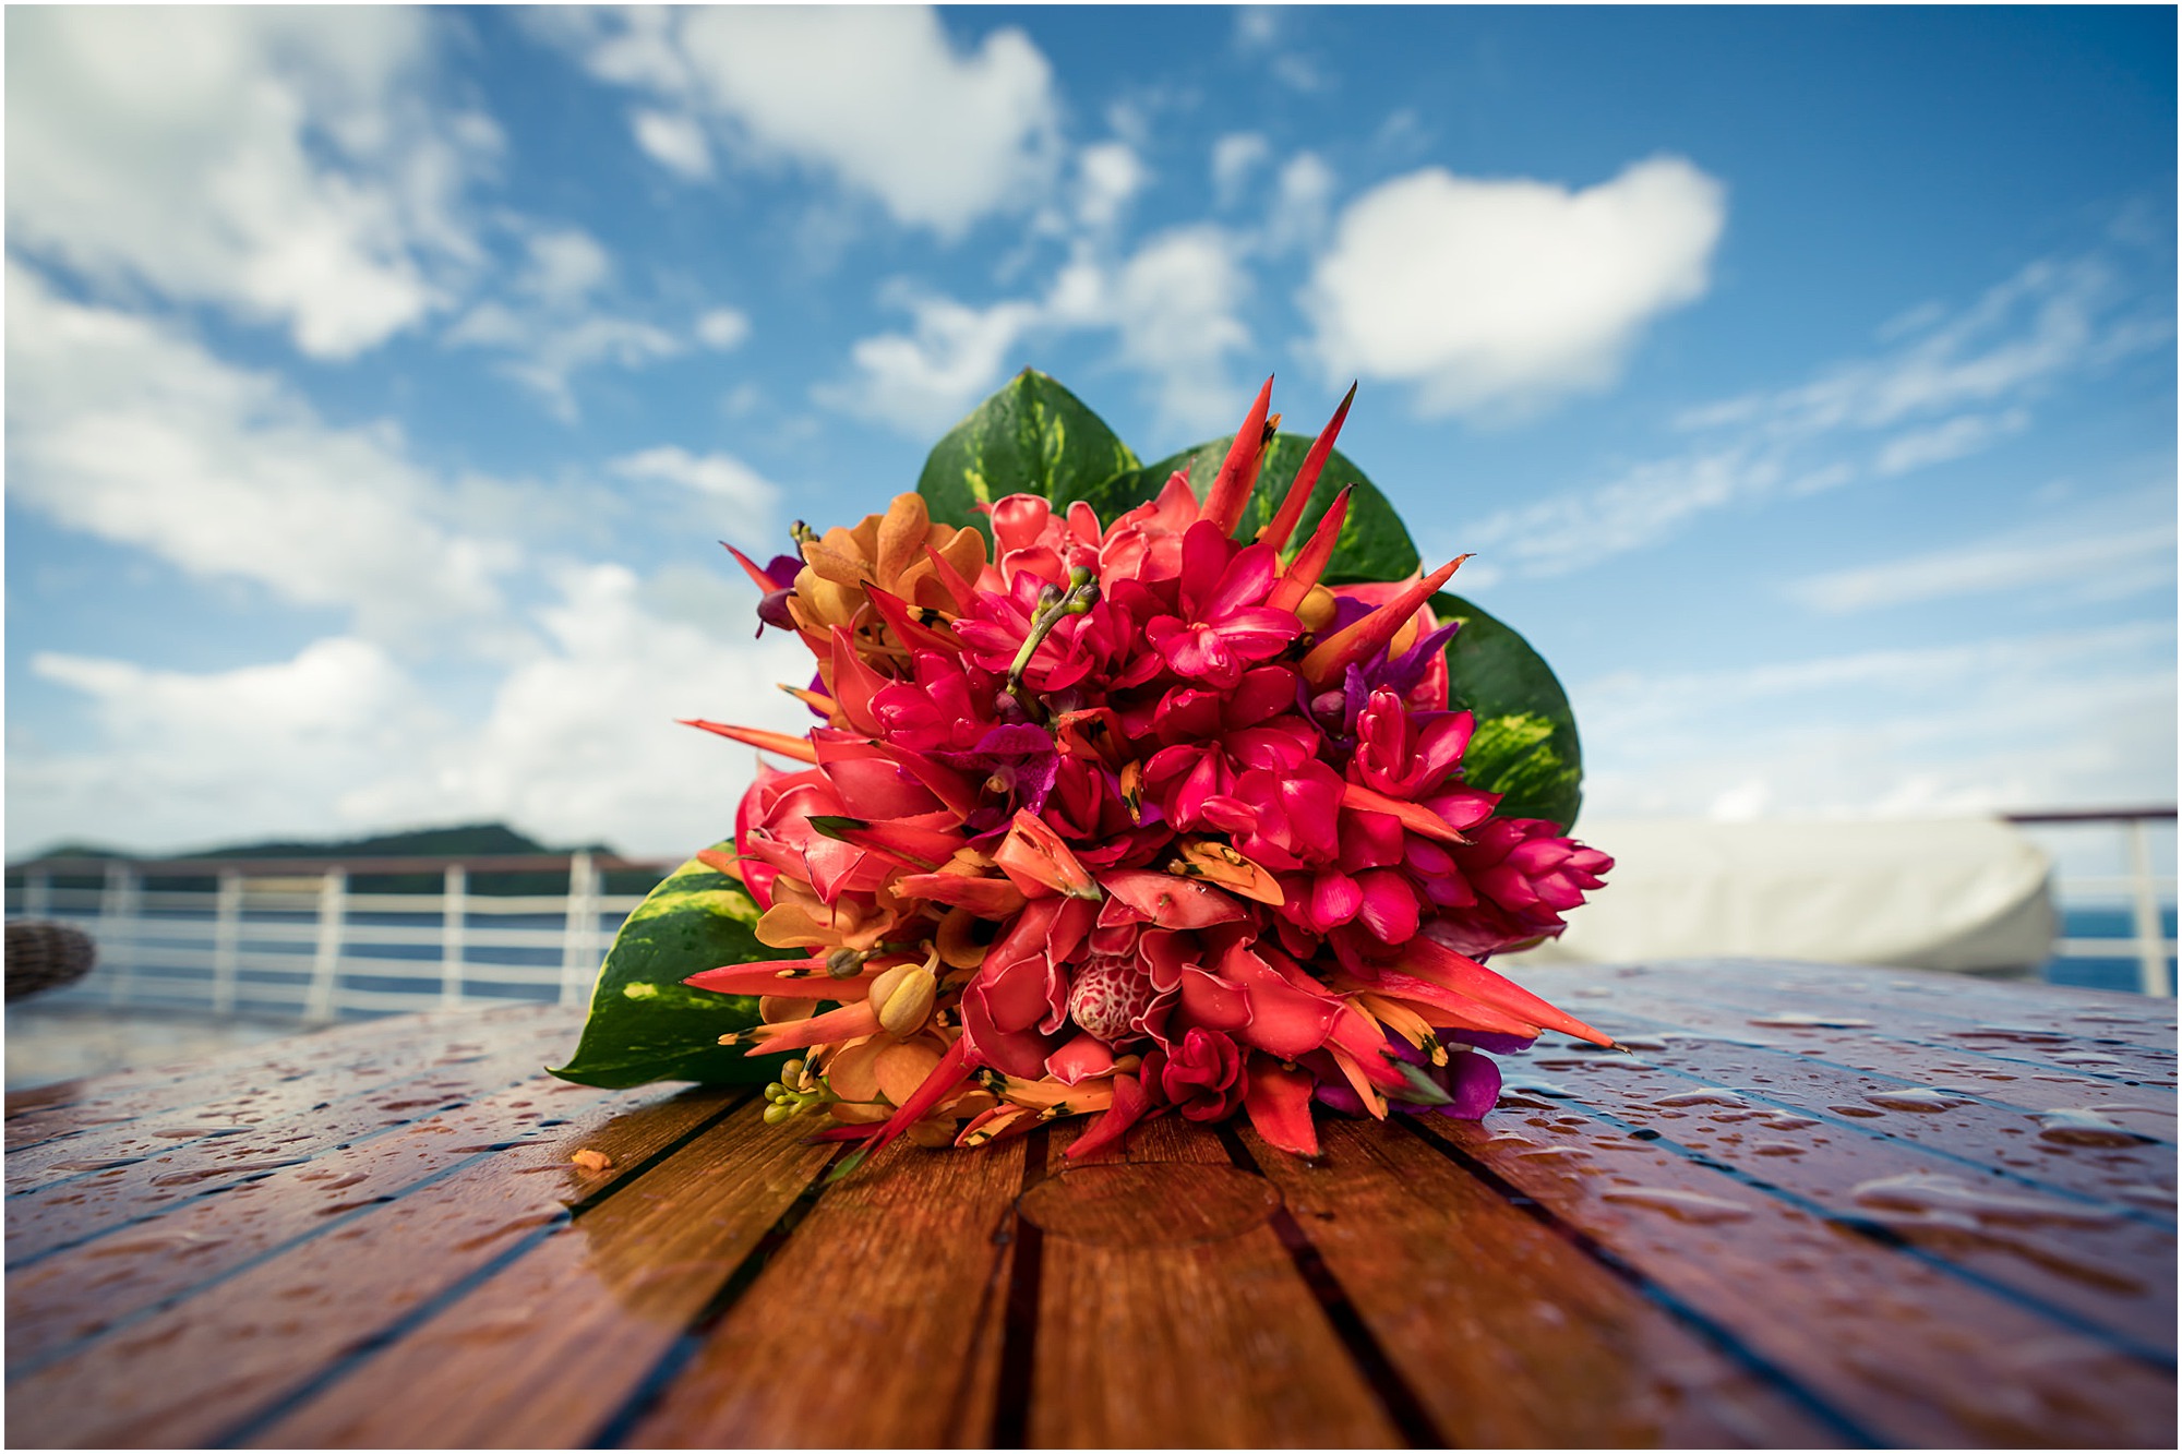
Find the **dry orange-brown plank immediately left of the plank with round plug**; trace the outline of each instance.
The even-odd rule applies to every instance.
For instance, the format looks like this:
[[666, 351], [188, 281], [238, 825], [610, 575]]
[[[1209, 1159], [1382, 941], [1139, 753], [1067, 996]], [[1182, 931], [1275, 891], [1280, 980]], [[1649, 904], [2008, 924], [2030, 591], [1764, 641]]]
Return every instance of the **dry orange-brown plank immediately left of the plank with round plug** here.
[[[934, 1447], [962, 1423], [978, 1310], [1010, 1242], [1023, 1142], [895, 1146], [840, 1181], [740, 1299], [694, 1332], [655, 1399], [611, 1426], [626, 1447]], [[982, 1415], [982, 1417], [980, 1417]]]

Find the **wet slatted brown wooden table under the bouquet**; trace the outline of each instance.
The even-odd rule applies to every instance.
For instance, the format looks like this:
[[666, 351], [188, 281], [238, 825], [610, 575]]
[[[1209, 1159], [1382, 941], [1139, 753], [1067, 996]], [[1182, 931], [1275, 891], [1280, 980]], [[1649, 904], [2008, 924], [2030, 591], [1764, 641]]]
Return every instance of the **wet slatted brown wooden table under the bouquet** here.
[[1063, 1122], [823, 1185], [748, 1092], [539, 1074], [561, 1009], [9, 1096], [7, 1439], [2173, 1447], [2171, 1000], [1521, 976], [1634, 1054], [1316, 1161]]

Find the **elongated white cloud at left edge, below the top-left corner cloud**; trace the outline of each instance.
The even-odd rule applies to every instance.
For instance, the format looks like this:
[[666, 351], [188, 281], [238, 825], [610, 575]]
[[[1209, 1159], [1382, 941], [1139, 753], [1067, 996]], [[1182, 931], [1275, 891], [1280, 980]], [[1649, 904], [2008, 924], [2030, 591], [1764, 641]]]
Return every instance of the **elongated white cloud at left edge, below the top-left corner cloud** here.
[[264, 373], [135, 314], [7, 273], [9, 493], [103, 539], [367, 633], [445, 633], [500, 609], [513, 552], [441, 522], [443, 485], [391, 426], [332, 428]]

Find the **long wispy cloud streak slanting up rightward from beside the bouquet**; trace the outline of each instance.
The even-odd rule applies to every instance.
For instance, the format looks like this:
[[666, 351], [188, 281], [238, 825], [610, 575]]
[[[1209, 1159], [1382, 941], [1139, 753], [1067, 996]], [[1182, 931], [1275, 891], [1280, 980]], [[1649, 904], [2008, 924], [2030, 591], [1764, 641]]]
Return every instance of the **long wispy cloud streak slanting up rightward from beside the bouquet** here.
[[2143, 310], [2095, 258], [2036, 262], [1968, 308], [1894, 330], [1898, 343], [1794, 389], [1685, 410], [1678, 454], [1604, 485], [1501, 511], [1460, 531], [1464, 550], [1551, 576], [1665, 539], [1730, 504], [1903, 476], [2029, 428], [2069, 378], [2154, 347], [2171, 319]]

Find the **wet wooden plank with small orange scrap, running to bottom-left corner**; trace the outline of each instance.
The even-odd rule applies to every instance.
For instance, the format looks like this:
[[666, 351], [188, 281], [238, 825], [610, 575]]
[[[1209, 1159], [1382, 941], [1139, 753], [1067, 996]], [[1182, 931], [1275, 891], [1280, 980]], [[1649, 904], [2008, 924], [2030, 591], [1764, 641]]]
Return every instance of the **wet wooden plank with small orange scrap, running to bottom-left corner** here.
[[[659, 1092], [652, 1092], [659, 1094]], [[434, 1299], [513, 1262], [711, 1111], [661, 1096], [594, 1105], [559, 1135], [484, 1153], [325, 1236], [103, 1336], [9, 1389], [9, 1443], [190, 1447], [242, 1441], [343, 1360], [397, 1338]], [[714, 1094], [720, 1111], [729, 1098]], [[519, 1127], [511, 1127], [515, 1131]], [[508, 1135], [506, 1140], [513, 1140]], [[611, 1159], [570, 1166], [576, 1148]]]

